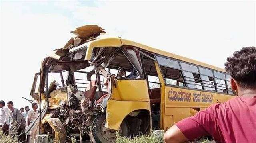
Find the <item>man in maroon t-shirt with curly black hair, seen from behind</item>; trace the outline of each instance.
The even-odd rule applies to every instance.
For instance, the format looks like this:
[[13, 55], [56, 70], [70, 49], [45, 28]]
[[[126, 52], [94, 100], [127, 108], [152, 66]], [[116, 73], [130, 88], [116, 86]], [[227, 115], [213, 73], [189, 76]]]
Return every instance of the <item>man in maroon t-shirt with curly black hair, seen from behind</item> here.
[[238, 97], [212, 104], [196, 115], [179, 121], [164, 134], [164, 141], [184, 142], [213, 136], [216, 142], [256, 142], [256, 48], [246, 47], [227, 58], [225, 70], [231, 75]]

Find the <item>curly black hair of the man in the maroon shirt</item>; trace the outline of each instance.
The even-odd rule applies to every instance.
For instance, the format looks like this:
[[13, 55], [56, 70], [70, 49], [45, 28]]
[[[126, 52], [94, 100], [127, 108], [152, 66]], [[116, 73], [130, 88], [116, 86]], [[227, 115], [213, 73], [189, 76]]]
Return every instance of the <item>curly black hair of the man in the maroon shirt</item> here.
[[244, 47], [227, 58], [225, 70], [244, 89], [256, 89], [256, 48]]

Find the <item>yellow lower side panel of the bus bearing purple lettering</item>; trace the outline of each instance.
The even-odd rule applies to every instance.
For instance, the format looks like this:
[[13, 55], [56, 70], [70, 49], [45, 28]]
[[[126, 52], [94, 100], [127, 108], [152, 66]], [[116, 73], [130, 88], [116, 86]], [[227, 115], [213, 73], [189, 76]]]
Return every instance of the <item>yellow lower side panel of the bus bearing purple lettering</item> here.
[[195, 115], [213, 103], [226, 102], [236, 96], [165, 86], [165, 97], [164, 130], [167, 130], [178, 121]]

